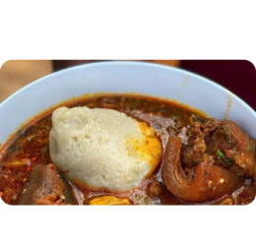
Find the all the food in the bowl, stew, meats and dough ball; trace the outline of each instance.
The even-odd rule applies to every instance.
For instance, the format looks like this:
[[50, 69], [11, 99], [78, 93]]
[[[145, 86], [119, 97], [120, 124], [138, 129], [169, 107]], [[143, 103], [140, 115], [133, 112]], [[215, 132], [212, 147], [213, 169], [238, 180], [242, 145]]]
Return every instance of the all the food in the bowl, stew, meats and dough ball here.
[[150, 96], [84, 98], [0, 150], [8, 206], [249, 206], [256, 141], [235, 121]]

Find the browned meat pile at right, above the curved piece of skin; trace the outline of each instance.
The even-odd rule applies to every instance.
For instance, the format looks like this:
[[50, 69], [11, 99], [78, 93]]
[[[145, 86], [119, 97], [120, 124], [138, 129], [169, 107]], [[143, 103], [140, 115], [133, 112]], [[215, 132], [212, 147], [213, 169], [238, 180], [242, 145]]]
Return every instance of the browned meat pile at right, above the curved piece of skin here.
[[215, 164], [256, 179], [256, 143], [233, 122], [208, 119], [195, 123], [181, 161], [186, 172], [200, 162]]

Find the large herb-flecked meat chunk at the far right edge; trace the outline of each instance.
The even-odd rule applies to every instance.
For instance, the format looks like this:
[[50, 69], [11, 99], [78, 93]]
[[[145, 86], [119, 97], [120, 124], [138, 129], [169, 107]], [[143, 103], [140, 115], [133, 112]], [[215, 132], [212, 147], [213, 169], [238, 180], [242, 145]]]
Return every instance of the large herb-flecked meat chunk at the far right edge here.
[[206, 153], [216, 164], [256, 179], [255, 140], [233, 122], [224, 120], [211, 137]]

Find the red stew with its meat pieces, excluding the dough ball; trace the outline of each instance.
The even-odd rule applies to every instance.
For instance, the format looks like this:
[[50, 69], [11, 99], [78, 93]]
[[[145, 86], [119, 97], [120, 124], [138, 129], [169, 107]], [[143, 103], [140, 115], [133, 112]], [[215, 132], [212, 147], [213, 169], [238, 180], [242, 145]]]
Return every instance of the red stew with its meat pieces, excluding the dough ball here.
[[52, 114], [45, 114], [0, 151], [0, 199], [5, 205], [248, 206], [256, 199], [256, 141], [233, 121], [128, 94], [88, 97], [74, 106], [113, 109], [146, 122], [162, 148], [155, 171], [127, 192], [70, 179], [51, 160]]

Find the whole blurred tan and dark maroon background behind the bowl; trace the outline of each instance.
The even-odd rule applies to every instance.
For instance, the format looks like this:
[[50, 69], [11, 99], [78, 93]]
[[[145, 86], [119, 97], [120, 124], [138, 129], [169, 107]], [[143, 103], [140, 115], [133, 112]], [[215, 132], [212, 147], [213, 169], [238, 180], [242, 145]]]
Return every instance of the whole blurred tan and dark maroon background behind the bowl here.
[[0, 102], [54, 71], [105, 60], [137, 60], [179, 67], [219, 83], [256, 110], [256, 67], [249, 59], [8, 59], [0, 67]]

